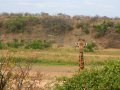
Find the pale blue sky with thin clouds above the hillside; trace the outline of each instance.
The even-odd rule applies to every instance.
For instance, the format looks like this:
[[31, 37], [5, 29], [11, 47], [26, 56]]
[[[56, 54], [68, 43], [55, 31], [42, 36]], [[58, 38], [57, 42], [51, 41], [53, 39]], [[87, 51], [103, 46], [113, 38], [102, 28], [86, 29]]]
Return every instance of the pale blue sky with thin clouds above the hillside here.
[[3, 12], [120, 17], [120, 0], [0, 0]]

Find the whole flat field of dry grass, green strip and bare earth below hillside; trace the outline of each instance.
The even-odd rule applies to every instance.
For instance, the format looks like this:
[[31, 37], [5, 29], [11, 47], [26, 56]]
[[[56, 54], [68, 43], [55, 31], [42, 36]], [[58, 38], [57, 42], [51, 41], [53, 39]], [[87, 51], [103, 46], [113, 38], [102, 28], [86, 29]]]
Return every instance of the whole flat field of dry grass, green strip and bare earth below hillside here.
[[[40, 85], [42, 85], [44, 88], [46, 88], [45, 85], [47, 84], [49, 85], [49, 87], [51, 87], [51, 85], [55, 85], [55, 83], [57, 82], [56, 78], [71, 78], [75, 74], [78, 74], [78, 59], [79, 50], [74, 48], [49, 48], [44, 50], [0, 50], [0, 61], [11, 61], [13, 64], [20, 63], [23, 67], [24, 65], [26, 65], [26, 63], [30, 62], [32, 64], [32, 67], [29, 75], [34, 76], [37, 72], [40, 73], [40, 78], [42, 75], [42, 79], [40, 79]], [[95, 52], [84, 52], [84, 60], [84, 70], [87, 70], [87, 72], [94, 69], [102, 70], [104, 65], [107, 63], [106, 61], [120, 61], [120, 50], [103, 49], [96, 50]], [[86, 75], [89, 76], [89, 73], [87, 73]], [[36, 80], [39, 81], [38, 76], [36, 76]], [[53, 90], [53, 88], [51, 87], [51, 89], [49, 88], [45, 90]]]

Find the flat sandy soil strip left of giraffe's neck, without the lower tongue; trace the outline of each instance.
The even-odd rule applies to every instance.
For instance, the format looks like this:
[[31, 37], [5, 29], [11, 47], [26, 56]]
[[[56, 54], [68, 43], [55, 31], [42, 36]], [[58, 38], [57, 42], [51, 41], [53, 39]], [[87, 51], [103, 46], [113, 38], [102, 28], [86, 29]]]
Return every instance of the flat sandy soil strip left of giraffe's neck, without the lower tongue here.
[[48, 79], [54, 77], [67, 76], [71, 77], [77, 71], [77, 66], [33, 66], [32, 72], [41, 72]]

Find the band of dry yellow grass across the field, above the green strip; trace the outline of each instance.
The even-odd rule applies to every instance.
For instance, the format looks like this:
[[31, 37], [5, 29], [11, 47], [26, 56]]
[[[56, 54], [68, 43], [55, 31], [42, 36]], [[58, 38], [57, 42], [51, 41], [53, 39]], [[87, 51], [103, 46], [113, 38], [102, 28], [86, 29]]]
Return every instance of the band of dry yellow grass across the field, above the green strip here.
[[[34, 58], [47, 61], [63, 61], [63, 62], [78, 62], [79, 52], [74, 48], [54, 48], [47, 50], [1, 50], [0, 57], [5, 56], [9, 52], [9, 56]], [[105, 61], [111, 59], [120, 59], [119, 49], [98, 50], [93, 53], [85, 52], [85, 62], [90, 61]]]

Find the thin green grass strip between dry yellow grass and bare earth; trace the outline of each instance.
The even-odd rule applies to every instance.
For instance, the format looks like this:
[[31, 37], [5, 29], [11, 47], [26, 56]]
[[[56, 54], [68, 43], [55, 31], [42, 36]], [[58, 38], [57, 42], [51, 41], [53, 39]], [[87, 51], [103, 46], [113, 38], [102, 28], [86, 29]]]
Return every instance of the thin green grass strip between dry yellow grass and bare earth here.
[[[0, 57], [0, 62], [4, 60], [4, 57]], [[15, 62], [15, 63], [27, 63], [30, 62], [31, 64], [44, 64], [44, 65], [77, 65], [77, 62], [72, 61], [63, 61], [63, 60], [48, 60], [48, 59], [40, 59], [40, 58], [24, 58], [24, 57], [7, 57], [8, 61]]]

